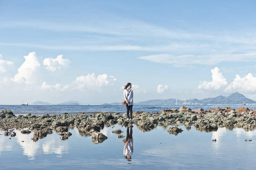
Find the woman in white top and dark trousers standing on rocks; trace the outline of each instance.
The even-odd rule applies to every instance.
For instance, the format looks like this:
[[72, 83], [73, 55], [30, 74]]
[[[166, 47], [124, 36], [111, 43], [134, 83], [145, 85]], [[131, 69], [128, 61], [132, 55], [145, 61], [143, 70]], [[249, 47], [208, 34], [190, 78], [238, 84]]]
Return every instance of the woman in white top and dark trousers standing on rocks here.
[[123, 97], [126, 101], [126, 113], [127, 113], [127, 121], [129, 120], [129, 111], [130, 111], [130, 121], [133, 121], [133, 90], [131, 90], [132, 84], [127, 83], [123, 90]]

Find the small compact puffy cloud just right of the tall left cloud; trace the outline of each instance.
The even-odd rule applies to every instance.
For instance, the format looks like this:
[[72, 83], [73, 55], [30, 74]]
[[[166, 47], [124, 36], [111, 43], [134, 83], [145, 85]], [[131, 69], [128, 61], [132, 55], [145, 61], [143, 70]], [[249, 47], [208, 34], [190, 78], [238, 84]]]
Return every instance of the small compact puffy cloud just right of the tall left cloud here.
[[57, 58], [45, 58], [43, 60], [43, 65], [46, 69], [55, 71], [60, 70], [62, 67], [67, 67], [70, 61], [68, 59], [63, 59], [63, 55], [58, 55]]

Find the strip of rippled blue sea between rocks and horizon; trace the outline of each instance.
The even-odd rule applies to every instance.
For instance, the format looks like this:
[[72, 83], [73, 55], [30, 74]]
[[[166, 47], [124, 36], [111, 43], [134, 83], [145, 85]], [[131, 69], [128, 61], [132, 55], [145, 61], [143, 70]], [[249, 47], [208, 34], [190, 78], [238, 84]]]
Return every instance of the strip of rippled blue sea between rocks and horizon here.
[[[159, 112], [163, 109], [179, 109], [182, 105], [133, 105], [133, 112]], [[202, 108], [216, 109], [217, 107], [231, 107], [237, 109], [238, 107], [248, 107], [249, 109], [256, 109], [256, 105], [185, 105], [191, 109]], [[0, 105], [0, 110], [10, 109], [14, 114], [77, 114], [79, 112], [95, 113], [95, 112], [126, 112], [124, 105]]]

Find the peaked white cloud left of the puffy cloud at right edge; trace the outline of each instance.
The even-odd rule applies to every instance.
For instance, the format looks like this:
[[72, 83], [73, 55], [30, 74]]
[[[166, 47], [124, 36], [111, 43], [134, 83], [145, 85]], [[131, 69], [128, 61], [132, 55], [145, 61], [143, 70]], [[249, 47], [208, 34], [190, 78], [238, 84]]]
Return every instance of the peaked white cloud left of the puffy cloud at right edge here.
[[224, 87], [228, 85], [227, 79], [224, 77], [224, 75], [220, 72], [218, 67], [215, 67], [211, 70], [212, 72], [212, 81], [207, 82], [203, 81], [200, 85], [198, 85], [198, 89], [220, 89], [221, 87]]

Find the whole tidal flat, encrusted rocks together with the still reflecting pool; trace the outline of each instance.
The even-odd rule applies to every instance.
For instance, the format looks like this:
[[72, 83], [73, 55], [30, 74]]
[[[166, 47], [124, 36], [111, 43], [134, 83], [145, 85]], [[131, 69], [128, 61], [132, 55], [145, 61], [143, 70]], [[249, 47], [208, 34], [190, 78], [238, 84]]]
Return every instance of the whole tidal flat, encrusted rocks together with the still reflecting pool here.
[[183, 107], [136, 112], [129, 122], [119, 113], [16, 116], [2, 110], [1, 168], [256, 168], [254, 113]]

